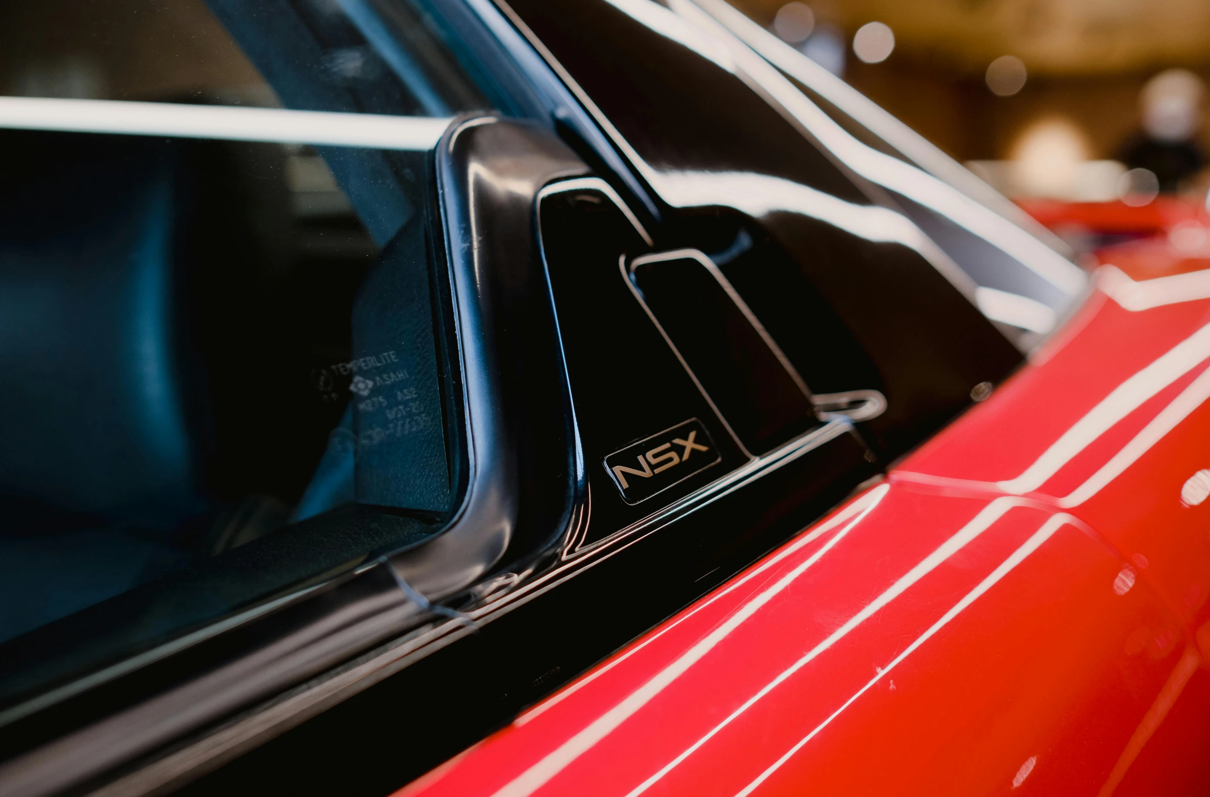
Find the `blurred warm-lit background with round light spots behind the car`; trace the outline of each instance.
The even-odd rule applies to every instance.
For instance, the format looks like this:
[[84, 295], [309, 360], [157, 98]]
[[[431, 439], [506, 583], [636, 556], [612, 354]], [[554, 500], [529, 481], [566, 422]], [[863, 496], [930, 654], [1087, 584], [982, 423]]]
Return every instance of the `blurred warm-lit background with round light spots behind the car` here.
[[1205, 212], [1205, 0], [734, 1], [1077, 250]]

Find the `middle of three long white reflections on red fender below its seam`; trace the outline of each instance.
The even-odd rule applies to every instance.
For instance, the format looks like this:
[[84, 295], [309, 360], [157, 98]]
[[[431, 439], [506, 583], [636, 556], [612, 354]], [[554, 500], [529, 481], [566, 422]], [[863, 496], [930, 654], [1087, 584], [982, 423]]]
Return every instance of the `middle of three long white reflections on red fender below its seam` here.
[[761, 689], [756, 694], [748, 698], [748, 700], [745, 700], [743, 705], [741, 705], [738, 709], [727, 715], [727, 717], [722, 722], [714, 726], [714, 728], [711, 728], [704, 737], [695, 741], [684, 752], [681, 752], [679, 756], [676, 756], [667, 764], [664, 764], [664, 767], [661, 768], [659, 772], [651, 775], [641, 784], [635, 786], [633, 790], [630, 790], [627, 797], [638, 797], [638, 795], [641, 795], [647, 789], [653, 786], [661, 778], [667, 775], [678, 764], [680, 764], [682, 761], [693, 755], [702, 745], [713, 739], [715, 734], [718, 734], [720, 730], [731, 724], [731, 722], [733, 722], [741, 714], [750, 709], [753, 705], [756, 704], [757, 700], [760, 700], [766, 694], [777, 688], [778, 685], [780, 685], [786, 678], [793, 676], [795, 672], [801, 670], [803, 666], [809, 664], [812, 660], [816, 659], [816, 657], [818, 657], [820, 653], [823, 653], [832, 645], [835, 645], [837, 641], [843, 639], [849, 631], [852, 631], [854, 628], [864, 623], [878, 610], [883, 608], [887, 603], [899, 597], [909, 587], [918, 582], [928, 573], [933, 572], [933, 570], [935, 570], [938, 565], [944, 562], [946, 559], [949, 559], [958, 550], [961, 550], [972, 539], [974, 539], [975, 537], [985, 532], [987, 529], [990, 529], [991, 525], [997, 520], [999, 520], [1004, 515], [1004, 513], [1007, 513], [1009, 509], [1012, 509], [1013, 507], [1024, 506], [1025, 503], [1026, 502], [1020, 498], [1009, 498], [1007, 496], [1003, 498], [996, 498], [995, 501], [989, 503], [986, 507], [983, 508], [983, 510], [978, 515], [974, 516], [974, 519], [970, 520], [970, 522], [960, 529], [956, 535], [953, 535], [944, 543], [941, 543], [941, 545], [937, 550], [934, 550], [932, 554], [922, 559], [920, 564], [917, 564], [915, 567], [908, 571], [908, 573], [904, 574], [899, 581], [897, 581], [887, 591], [882, 593], [876, 599], [874, 599], [872, 602], [870, 602], [865, 608], [854, 614], [847, 623], [845, 623], [839, 629], [832, 631], [828, 636], [828, 639], [825, 639], [823, 642], [811, 648], [811, 651], [808, 651], [806, 655], [800, 658], [797, 662], [791, 664], [785, 670], [782, 670], [782, 672], [778, 674], [776, 678], [773, 678], [764, 687], [761, 687]]

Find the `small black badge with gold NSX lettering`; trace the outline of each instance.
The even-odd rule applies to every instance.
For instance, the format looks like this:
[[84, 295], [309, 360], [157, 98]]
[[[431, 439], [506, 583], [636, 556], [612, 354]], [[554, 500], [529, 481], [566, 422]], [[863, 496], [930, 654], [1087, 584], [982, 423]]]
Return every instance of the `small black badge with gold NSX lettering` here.
[[622, 501], [639, 503], [721, 458], [709, 432], [693, 418], [615, 451], [605, 457], [605, 469]]

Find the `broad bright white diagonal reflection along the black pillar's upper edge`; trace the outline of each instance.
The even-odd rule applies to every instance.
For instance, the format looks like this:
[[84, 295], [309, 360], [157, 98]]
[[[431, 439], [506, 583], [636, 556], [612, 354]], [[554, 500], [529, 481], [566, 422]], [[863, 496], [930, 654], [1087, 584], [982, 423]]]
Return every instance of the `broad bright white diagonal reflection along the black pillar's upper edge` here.
[[720, 40], [731, 47], [741, 71], [755, 79], [760, 88], [799, 125], [863, 178], [947, 216], [1007, 252], [1067, 295], [1074, 296], [1084, 290], [1084, 272], [1050, 247], [932, 174], [859, 142], [812, 103], [776, 67], [690, 0], [669, 0], [669, 6], [703, 29], [715, 30]]

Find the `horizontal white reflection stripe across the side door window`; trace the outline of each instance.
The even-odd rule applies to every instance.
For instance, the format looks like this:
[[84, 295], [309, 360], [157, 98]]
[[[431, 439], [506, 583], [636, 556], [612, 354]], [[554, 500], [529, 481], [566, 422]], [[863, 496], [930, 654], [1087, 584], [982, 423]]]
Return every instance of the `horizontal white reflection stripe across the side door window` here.
[[425, 151], [449, 119], [109, 99], [0, 97], [0, 128]]

